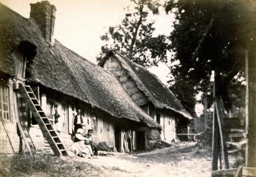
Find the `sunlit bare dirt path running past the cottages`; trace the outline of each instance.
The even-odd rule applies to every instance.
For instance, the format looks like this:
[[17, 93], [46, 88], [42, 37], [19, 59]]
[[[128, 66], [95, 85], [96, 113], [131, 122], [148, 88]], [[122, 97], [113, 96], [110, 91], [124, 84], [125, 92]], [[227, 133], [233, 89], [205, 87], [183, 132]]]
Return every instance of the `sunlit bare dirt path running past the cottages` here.
[[210, 150], [195, 143], [174, 144], [150, 152], [99, 156], [98, 159], [68, 157], [105, 169], [102, 176], [210, 176]]

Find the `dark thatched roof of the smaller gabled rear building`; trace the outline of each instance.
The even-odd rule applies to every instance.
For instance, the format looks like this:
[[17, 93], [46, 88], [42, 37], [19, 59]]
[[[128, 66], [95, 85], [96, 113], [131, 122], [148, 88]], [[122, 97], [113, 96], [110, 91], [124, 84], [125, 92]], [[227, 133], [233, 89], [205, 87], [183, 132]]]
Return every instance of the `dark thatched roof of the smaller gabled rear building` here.
[[144, 93], [148, 100], [153, 103], [155, 108], [167, 108], [188, 119], [193, 119], [172, 91], [170, 91], [157, 76], [146, 70], [141, 65], [131, 61], [129, 58], [124, 57], [118, 52], [110, 51], [104, 58], [102, 58], [102, 60], [99, 61], [98, 65], [103, 67], [106, 59], [110, 56], [116, 57], [126, 73], [135, 81], [138, 88]]

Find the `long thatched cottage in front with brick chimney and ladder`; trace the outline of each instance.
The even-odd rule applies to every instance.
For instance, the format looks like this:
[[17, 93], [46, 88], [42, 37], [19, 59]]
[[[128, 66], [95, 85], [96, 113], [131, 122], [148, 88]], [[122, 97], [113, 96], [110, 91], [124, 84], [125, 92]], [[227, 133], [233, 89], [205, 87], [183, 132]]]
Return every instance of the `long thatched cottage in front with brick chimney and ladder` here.
[[55, 11], [48, 1], [31, 4], [27, 19], [0, 4], [0, 153], [48, 141], [66, 154], [78, 108], [97, 142], [118, 151], [150, 148], [161, 126], [114, 75], [54, 39]]

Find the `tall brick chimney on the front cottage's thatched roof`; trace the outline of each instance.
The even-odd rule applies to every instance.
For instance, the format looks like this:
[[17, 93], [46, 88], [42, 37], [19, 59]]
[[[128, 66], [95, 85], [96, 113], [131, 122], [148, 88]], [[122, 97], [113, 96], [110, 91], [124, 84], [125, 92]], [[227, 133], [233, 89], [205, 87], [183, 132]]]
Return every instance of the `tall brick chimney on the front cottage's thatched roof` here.
[[30, 19], [35, 21], [45, 40], [53, 46], [56, 7], [48, 1], [30, 4], [30, 7]]

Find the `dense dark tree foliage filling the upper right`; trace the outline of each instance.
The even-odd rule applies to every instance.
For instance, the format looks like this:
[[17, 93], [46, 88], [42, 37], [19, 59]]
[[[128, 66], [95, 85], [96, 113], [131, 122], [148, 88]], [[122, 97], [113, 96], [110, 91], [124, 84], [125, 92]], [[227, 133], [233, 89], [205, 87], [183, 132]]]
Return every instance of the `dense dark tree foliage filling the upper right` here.
[[193, 100], [199, 90], [204, 92], [209, 88], [215, 71], [216, 94], [222, 98], [226, 110], [231, 108], [231, 95], [244, 88], [233, 77], [244, 72], [244, 51], [255, 50], [254, 9], [253, 1], [171, 0], [166, 3], [166, 12], [175, 13], [176, 18], [169, 36], [170, 50], [175, 53], [171, 62], [179, 60], [178, 65], [170, 67], [174, 76], [171, 82], [178, 98], [189, 90], [185, 105], [191, 107], [189, 99]]

